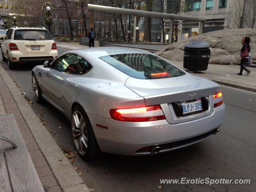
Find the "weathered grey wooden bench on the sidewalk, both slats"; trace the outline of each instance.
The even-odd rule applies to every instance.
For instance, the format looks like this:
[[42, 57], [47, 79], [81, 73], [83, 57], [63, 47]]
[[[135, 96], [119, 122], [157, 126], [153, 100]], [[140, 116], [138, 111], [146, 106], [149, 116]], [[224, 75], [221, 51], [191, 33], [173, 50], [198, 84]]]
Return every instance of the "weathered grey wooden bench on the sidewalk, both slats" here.
[[0, 115], [0, 192], [44, 192], [13, 114]]

